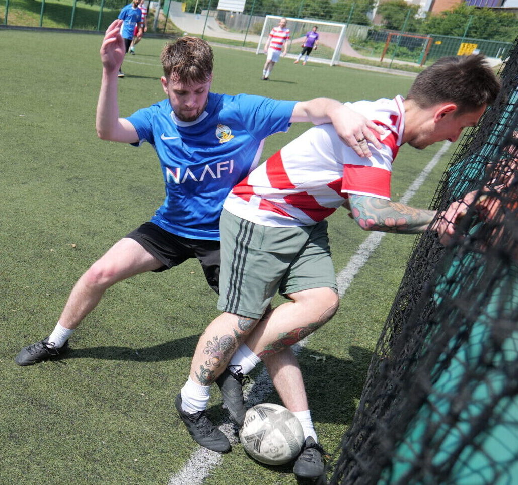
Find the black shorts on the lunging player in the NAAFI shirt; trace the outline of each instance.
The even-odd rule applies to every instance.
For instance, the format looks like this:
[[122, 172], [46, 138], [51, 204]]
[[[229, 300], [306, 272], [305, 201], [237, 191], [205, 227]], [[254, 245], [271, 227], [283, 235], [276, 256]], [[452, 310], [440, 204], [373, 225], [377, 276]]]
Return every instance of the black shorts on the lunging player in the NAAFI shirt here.
[[188, 239], [165, 231], [152, 222], [145, 222], [126, 237], [138, 242], [164, 266], [154, 272], [165, 271], [195, 257], [202, 265], [209, 286], [219, 294], [220, 241]]

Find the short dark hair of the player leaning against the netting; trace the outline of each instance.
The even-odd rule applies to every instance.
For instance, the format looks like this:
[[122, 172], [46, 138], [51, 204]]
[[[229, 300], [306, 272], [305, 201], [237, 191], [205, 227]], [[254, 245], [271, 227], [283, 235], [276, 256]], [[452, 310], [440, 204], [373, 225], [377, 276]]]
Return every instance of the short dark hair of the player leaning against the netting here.
[[481, 54], [440, 58], [415, 78], [407, 99], [420, 108], [453, 102], [456, 115], [492, 104], [500, 82]]

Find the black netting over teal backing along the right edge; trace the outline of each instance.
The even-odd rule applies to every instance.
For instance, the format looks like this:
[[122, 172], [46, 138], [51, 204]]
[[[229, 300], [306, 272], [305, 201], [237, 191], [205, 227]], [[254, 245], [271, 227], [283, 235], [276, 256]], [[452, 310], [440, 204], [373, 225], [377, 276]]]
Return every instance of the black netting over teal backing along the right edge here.
[[473, 193], [491, 210], [467, 205], [447, 246], [431, 232], [416, 242], [332, 485], [516, 483], [518, 39], [500, 77], [432, 203]]

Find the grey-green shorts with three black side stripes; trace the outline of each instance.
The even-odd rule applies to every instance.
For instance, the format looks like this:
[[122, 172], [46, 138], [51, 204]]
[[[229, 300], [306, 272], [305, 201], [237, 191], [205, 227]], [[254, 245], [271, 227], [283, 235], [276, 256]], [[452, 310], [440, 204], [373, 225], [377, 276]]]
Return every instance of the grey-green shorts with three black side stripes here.
[[337, 289], [327, 222], [272, 228], [223, 209], [218, 308], [260, 318], [277, 292]]

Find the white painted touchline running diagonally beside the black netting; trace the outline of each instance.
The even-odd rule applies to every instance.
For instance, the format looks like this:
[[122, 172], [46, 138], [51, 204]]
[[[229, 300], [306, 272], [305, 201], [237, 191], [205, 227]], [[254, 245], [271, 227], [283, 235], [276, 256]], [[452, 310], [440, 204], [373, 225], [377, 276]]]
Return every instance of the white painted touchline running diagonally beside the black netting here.
[[[412, 185], [402, 195], [399, 202], [407, 204], [412, 196], [423, 185], [430, 172], [437, 165], [441, 157], [450, 148], [450, 142], [444, 142], [439, 151], [428, 162], [419, 176], [413, 181]], [[358, 271], [367, 263], [370, 255], [380, 245], [384, 232], [372, 232], [367, 239], [359, 246], [358, 250], [349, 260], [347, 266], [337, 275], [338, 294], [340, 298], [346, 293]], [[308, 338], [305, 338], [293, 345], [295, 355], [298, 355], [303, 347], [306, 346]], [[254, 406], [263, 401], [274, 390], [270, 376], [266, 368], [257, 375], [252, 385], [243, 391], [244, 399], [247, 400], [249, 407]], [[225, 433], [231, 444], [237, 444], [235, 436], [235, 427], [229, 422], [224, 422], [219, 429]], [[210, 475], [213, 468], [220, 465], [223, 461], [223, 455], [215, 451], [210, 451], [203, 447], [198, 447], [191, 455], [190, 460], [185, 463], [183, 468], [169, 478], [168, 485], [202, 485], [205, 478]]]

